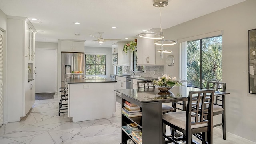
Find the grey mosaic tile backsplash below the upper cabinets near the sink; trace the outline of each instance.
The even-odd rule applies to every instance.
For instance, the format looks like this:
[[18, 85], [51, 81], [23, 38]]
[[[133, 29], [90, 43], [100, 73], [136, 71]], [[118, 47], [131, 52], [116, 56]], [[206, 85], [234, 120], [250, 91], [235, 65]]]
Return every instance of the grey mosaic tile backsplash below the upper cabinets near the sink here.
[[[141, 75], [142, 77], [162, 77], [164, 74], [164, 66], [143, 66], [144, 72], [135, 72], [135, 75]], [[133, 75], [130, 66], [122, 66], [122, 74]]]

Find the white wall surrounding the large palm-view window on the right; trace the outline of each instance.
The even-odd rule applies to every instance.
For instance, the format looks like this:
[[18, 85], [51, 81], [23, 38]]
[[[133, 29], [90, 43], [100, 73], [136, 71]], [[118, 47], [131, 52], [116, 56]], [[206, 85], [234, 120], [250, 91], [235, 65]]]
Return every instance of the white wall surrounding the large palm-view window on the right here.
[[[256, 95], [248, 93], [248, 30], [254, 28], [256, 1], [247, 0], [168, 28], [164, 35], [177, 40], [223, 30], [222, 81], [230, 93], [226, 95], [226, 131], [256, 142]], [[176, 63], [173, 67], [165, 65], [165, 73], [175, 77], [179, 75], [178, 48], [179, 44], [164, 47], [172, 50]]]

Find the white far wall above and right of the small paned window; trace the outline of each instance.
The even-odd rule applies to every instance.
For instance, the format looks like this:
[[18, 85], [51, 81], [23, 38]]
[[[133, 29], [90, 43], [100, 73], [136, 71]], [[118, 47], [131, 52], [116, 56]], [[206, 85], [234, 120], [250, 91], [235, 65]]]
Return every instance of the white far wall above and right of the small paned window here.
[[110, 78], [113, 73], [112, 65], [112, 47], [85, 47], [85, 53], [106, 53], [106, 75], [99, 75], [100, 77]]

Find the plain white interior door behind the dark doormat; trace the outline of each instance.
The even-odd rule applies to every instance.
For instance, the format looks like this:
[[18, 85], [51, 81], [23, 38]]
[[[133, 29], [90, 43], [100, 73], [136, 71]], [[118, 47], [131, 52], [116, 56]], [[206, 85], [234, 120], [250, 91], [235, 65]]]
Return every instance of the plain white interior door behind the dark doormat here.
[[56, 92], [56, 49], [36, 49], [36, 93]]

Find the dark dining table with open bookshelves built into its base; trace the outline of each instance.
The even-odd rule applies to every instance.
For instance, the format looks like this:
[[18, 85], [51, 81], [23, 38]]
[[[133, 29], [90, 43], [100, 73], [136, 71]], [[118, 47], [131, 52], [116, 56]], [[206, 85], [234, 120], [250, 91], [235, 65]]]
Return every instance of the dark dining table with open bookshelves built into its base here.
[[[122, 126], [129, 122], [138, 124], [142, 133], [143, 144], [164, 144], [162, 127], [162, 103], [172, 103], [177, 101], [187, 101], [190, 91], [204, 91], [187, 86], [176, 86], [169, 91], [159, 91], [157, 88], [139, 88], [139, 89], [117, 89], [114, 90], [122, 94], [122, 107], [126, 101], [134, 103], [141, 108], [142, 115], [129, 118], [125, 114], [121, 116]], [[214, 95], [227, 95], [230, 93], [214, 91]], [[211, 126], [212, 128], [212, 126]], [[212, 131], [212, 130], [211, 130]], [[122, 142], [131, 139], [122, 130]], [[138, 142], [137, 142], [138, 143]]]

